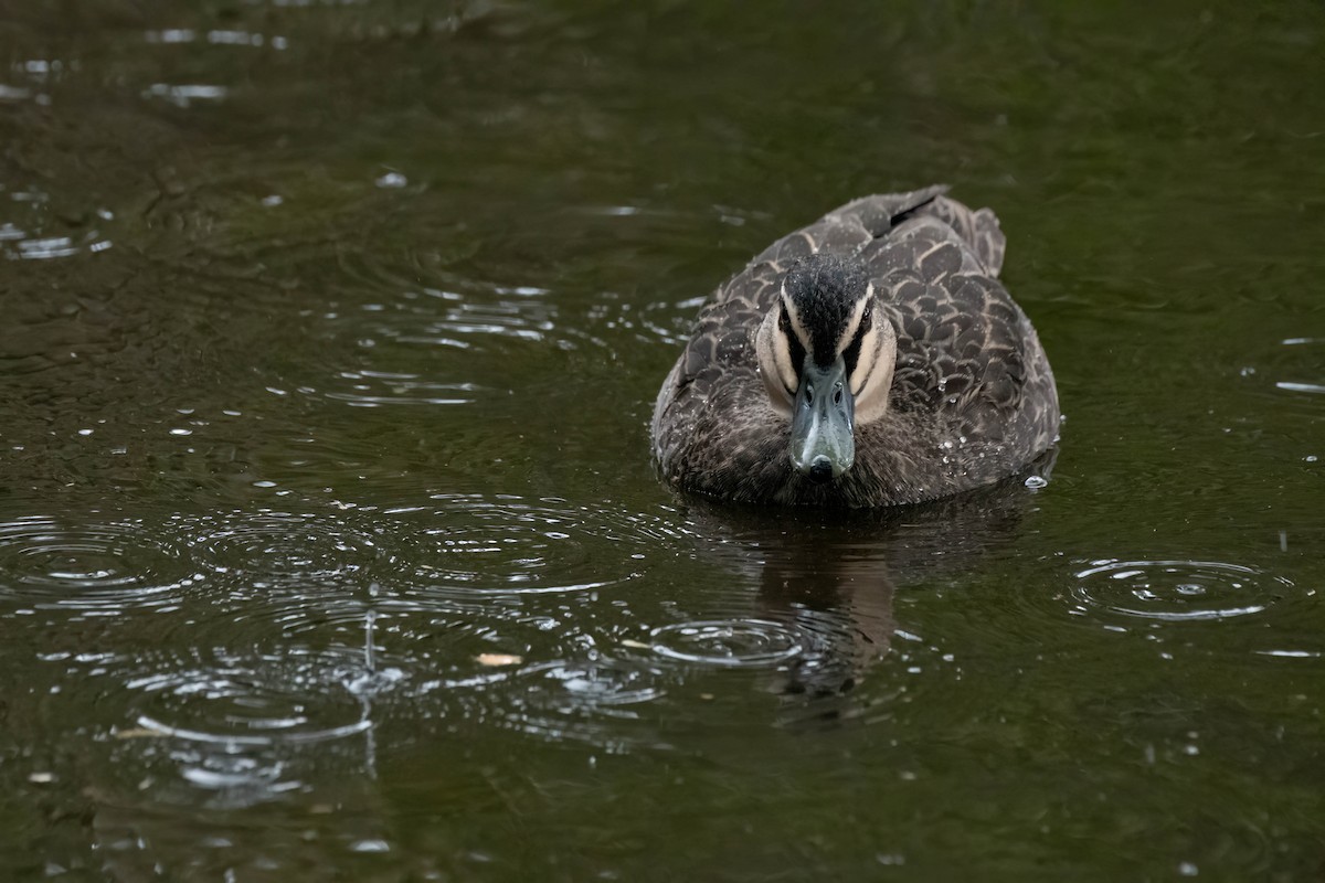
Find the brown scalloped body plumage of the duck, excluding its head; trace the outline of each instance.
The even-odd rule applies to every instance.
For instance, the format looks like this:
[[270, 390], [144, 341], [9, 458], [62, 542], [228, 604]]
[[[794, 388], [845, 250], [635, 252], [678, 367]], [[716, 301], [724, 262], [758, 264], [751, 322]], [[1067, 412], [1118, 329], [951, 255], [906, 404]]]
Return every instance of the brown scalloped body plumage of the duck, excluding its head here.
[[[718, 289], [653, 412], [653, 451], [672, 486], [755, 503], [894, 506], [1006, 478], [1053, 445], [1053, 373], [998, 281], [998, 218], [945, 191], [848, 203]], [[856, 426], [855, 465], [814, 483], [792, 469], [790, 421], [768, 400], [754, 338], [791, 262], [824, 252], [864, 263], [897, 360], [886, 413]]]

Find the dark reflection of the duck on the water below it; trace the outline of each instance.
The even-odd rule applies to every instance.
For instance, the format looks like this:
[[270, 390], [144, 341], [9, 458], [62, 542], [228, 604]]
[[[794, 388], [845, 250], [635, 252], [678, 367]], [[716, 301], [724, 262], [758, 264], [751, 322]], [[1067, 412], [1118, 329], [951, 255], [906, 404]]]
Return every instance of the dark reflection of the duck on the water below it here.
[[1052, 459], [982, 491], [916, 507], [772, 510], [690, 500], [686, 514], [706, 540], [705, 555], [758, 584], [759, 618], [786, 624], [800, 641], [802, 653], [771, 688], [841, 695], [888, 654], [897, 590], [970, 571], [987, 549], [1010, 541], [1034, 506], [1027, 478], [1048, 477]]

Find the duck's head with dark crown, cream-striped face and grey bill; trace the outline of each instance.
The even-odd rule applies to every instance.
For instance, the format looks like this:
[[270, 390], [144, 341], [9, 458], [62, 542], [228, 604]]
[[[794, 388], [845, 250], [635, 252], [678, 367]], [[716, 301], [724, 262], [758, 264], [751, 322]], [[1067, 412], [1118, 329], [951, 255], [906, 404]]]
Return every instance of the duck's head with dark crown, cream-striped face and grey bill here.
[[856, 258], [792, 263], [755, 335], [774, 410], [791, 421], [791, 463], [825, 483], [856, 462], [856, 428], [888, 410], [897, 334]]

